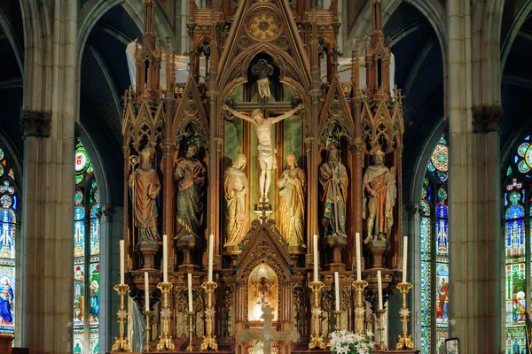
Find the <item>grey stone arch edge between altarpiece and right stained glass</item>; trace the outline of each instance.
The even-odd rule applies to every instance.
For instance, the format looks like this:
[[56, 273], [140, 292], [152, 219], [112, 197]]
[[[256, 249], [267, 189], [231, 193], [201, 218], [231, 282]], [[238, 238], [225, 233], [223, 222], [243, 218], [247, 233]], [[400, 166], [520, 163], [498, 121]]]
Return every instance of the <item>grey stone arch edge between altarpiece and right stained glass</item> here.
[[430, 158], [433, 154], [434, 147], [442, 138], [447, 127], [447, 121], [440, 119], [439, 123], [434, 129], [426, 135], [423, 148], [419, 151], [416, 158], [416, 164], [413, 166], [411, 183], [408, 188], [410, 190], [403, 191], [405, 193], [405, 211], [403, 212], [403, 225], [406, 225], [406, 234], [409, 235], [409, 250], [411, 258], [411, 281], [413, 283], [413, 293], [411, 299], [411, 311], [413, 318], [411, 321], [411, 331], [416, 343], [416, 348], [422, 347], [421, 342], [421, 316], [424, 299], [421, 292], [421, 219], [422, 209], [421, 201], [423, 199], [423, 186], [426, 177], [427, 164], [430, 163]]

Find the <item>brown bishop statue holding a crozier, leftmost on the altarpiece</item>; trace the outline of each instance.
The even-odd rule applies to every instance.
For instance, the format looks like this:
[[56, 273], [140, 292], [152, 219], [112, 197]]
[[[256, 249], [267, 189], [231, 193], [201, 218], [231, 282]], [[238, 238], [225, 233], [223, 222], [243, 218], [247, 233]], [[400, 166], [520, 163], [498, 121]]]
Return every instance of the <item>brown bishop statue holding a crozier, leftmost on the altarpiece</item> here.
[[138, 245], [160, 242], [155, 203], [160, 192], [160, 181], [152, 166], [154, 154], [155, 150], [151, 146], [141, 150], [140, 165], [129, 175], [134, 225], [138, 227]]

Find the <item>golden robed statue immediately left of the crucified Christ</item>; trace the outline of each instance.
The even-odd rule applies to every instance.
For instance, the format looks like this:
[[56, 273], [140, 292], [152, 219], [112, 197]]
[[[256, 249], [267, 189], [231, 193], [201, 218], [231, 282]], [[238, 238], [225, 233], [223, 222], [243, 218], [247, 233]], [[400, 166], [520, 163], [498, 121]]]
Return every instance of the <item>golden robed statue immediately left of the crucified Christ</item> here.
[[227, 202], [227, 212], [225, 214], [227, 241], [224, 247], [238, 245], [244, 236], [246, 229], [246, 194], [249, 190], [246, 173], [246, 156], [237, 155], [235, 161], [225, 170], [223, 177], [223, 188], [225, 189], [225, 201]]

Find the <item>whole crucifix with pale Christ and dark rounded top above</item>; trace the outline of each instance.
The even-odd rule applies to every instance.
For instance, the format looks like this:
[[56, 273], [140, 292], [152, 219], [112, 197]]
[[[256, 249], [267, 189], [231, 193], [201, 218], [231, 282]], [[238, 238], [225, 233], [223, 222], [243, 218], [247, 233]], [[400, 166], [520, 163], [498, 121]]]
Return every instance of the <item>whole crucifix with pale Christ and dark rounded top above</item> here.
[[[268, 199], [268, 191], [270, 190], [271, 184], [271, 170], [277, 167], [275, 156], [277, 150], [272, 146], [271, 128], [274, 124], [283, 119], [292, 117], [295, 113], [304, 108], [302, 104], [297, 104], [295, 108], [286, 112], [286, 108], [293, 107], [291, 102], [268, 102], [268, 97], [270, 96], [270, 83], [268, 77], [271, 76], [273, 71], [273, 65], [268, 63], [266, 59], [259, 59], [258, 62], [252, 66], [251, 72], [254, 76], [259, 78], [257, 81], [260, 96], [259, 102], [235, 103], [235, 109], [227, 104], [223, 104], [223, 111], [230, 112], [231, 115], [238, 117], [239, 119], [245, 119], [255, 126], [257, 140], [259, 142], [257, 147], [257, 158], [259, 160], [259, 165], [261, 166], [261, 175], [259, 179], [259, 204], [262, 205], [266, 205], [270, 202]], [[239, 112], [237, 109], [251, 111], [251, 114]], [[269, 119], [265, 118], [265, 116], [270, 115], [270, 113], [276, 114], [281, 112], [282, 114], [277, 117]]]

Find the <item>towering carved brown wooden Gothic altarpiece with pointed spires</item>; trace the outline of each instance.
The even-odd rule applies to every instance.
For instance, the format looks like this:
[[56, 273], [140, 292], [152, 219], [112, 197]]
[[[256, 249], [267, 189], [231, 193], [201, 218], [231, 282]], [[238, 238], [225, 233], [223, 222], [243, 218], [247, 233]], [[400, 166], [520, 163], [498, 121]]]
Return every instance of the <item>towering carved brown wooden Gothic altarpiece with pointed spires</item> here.
[[[365, 235], [367, 231], [363, 177], [377, 151], [385, 157], [385, 165], [395, 171], [397, 196], [389, 212], [395, 220], [393, 226], [380, 235], [381, 240], [375, 236], [376, 241], [364, 246], [364, 279], [370, 283], [366, 300], [375, 307], [377, 269], [383, 273], [385, 296], [395, 289], [400, 275], [396, 254], [401, 249], [402, 235], [402, 98], [399, 90], [389, 87], [391, 53], [382, 33], [381, 0], [371, 1], [374, 23], [365, 58], [359, 58], [356, 49], [350, 56], [350, 80], [340, 81], [337, 0], [326, 9], [314, 0], [211, 0], [205, 8], [189, 0], [189, 76], [185, 82], [176, 82], [179, 57], [169, 45], [156, 45], [158, 4], [145, 0], [145, 34], [137, 44], [136, 85], [124, 96], [127, 282], [131, 296], [144, 308], [144, 272], [148, 272], [150, 305], [158, 309], [156, 285], [162, 277], [162, 251], [157, 243], [137, 244], [139, 231], [133, 223], [136, 211], [128, 183], [129, 175], [140, 164], [140, 151], [148, 146], [154, 150], [153, 168], [162, 186], [156, 198], [157, 229], [159, 235], [168, 235], [171, 243], [168, 278], [174, 285], [171, 335], [176, 348], [184, 350], [188, 340], [186, 273], [192, 273], [193, 279], [197, 348], [204, 334], [206, 306], [200, 284], [207, 276], [207, 235], [215, 235], [215, 336], [220, 350], [243, 354], [250, 348], [235, 334], [262, 326], [260, 320], [250, 320], [249, 304], [257, 302], [277, 306], [273, 324], [278, 330], [294, 328], [300, 335], [292, 346], [279, 345], [279, 352], [308, 347], [314, 326], [308, 286], [313, 266], [312, 235], [319, 235], [320, 280], [325, 282], [320, 297], [322, 332], [326, 336], [335, 326], [353, 330], [355, 234]], [[365, 89], [359, 82], [364, 66]], [[160, 82], [161, 71], [166, 73], [166, 82]], [[260, 112], [264, 119], [275, 119], [300, 105], [302, 109], [276, 123], [270, 132], [276, 152], [271, 155], [273, 165], [278, 167], [271, 171], [269, 202], [263, 204], [259, 200], [261, 166], [255, 123], [235, 117], [224, 107], [250, 117]], [[198, 153], [189, 158], [192, 145]], [[325, 235], [319, 167], [327, 163], [327, 151], [332, 148], [339, 151], [338, 162], [347, 174], [345, 211], [342, 214], [335, 209], [344, 218], [345, 235]], [[229, 207], [224, 176], [239, 154], [246, 156], [241, 170], [247, 185], [239, 204], [242, 209], [236, 215], [244, 229], [238, 244], [226, 247]], [[278, 180], [291, 154], [305, 179], [302, 198], [297, 199], [303, 205], [301, 218], [295, 224], [301, 226], [301, 242], [279, 232], [280, 223], [287, 222], [289, 216], [279, 206]], [[178, 171], [180, 163], [194, 165], [194, 171], [207, 171], [205, 180], [199, 183], [201, 188], [194, 189], [193, 195], [202, 205], [202, 212], [190, 212], [191, 204], [179, 204], [179, 196], [185, 195], [183, 190], [196, 181], [192, 179], [188, 185], [176, 181], [182, 172]], [[181, 222], [178, 214], [193, 216], [198, 222], [191, 227]], [[183, 229], [186, 232], [179, 234]], [[340, 273], [340, 323], [332, 314], [334, 272]], [[371, 321], [367, 325], [372, 329]]]

